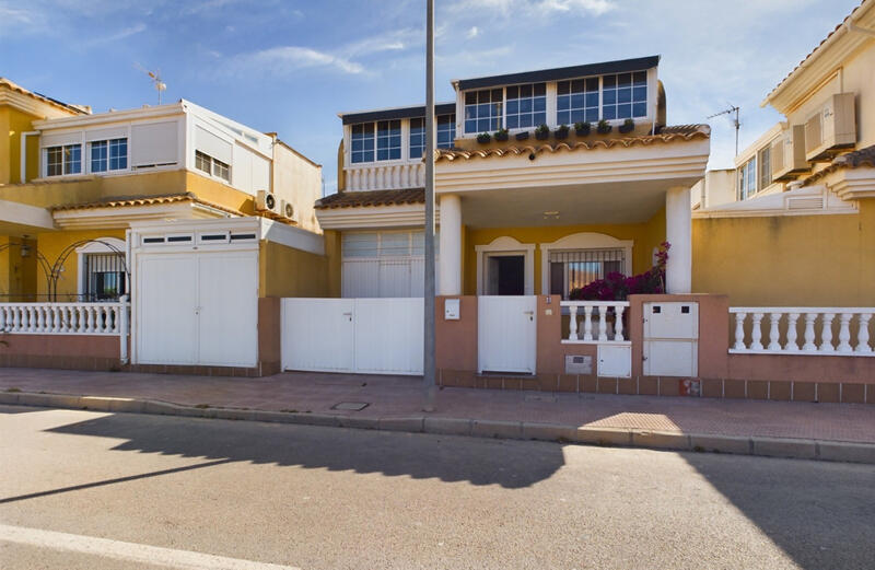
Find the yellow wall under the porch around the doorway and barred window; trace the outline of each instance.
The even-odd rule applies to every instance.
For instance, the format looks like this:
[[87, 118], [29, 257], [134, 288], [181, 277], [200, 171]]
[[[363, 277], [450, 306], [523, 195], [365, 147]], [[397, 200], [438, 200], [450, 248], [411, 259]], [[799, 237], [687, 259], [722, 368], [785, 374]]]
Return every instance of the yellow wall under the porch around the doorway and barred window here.
[[665, 209], [656, 212], [645, 223], [630, 224], [586, 224], [545, 228], [489, 228], [465, 229], [463, 237], [463, 294], [477, 294], [477, 252], [478, 245], [488, 245], [503, 235], [524, 244], [535, 244], [535, 294], [542, 294], [540, 244], [552, 243], [571, 234], [581, 232], [603, 233], [617, 240], [632, 240], [632, 271], [641, 274], [653, 266], [653, 248], [665, 240]]

